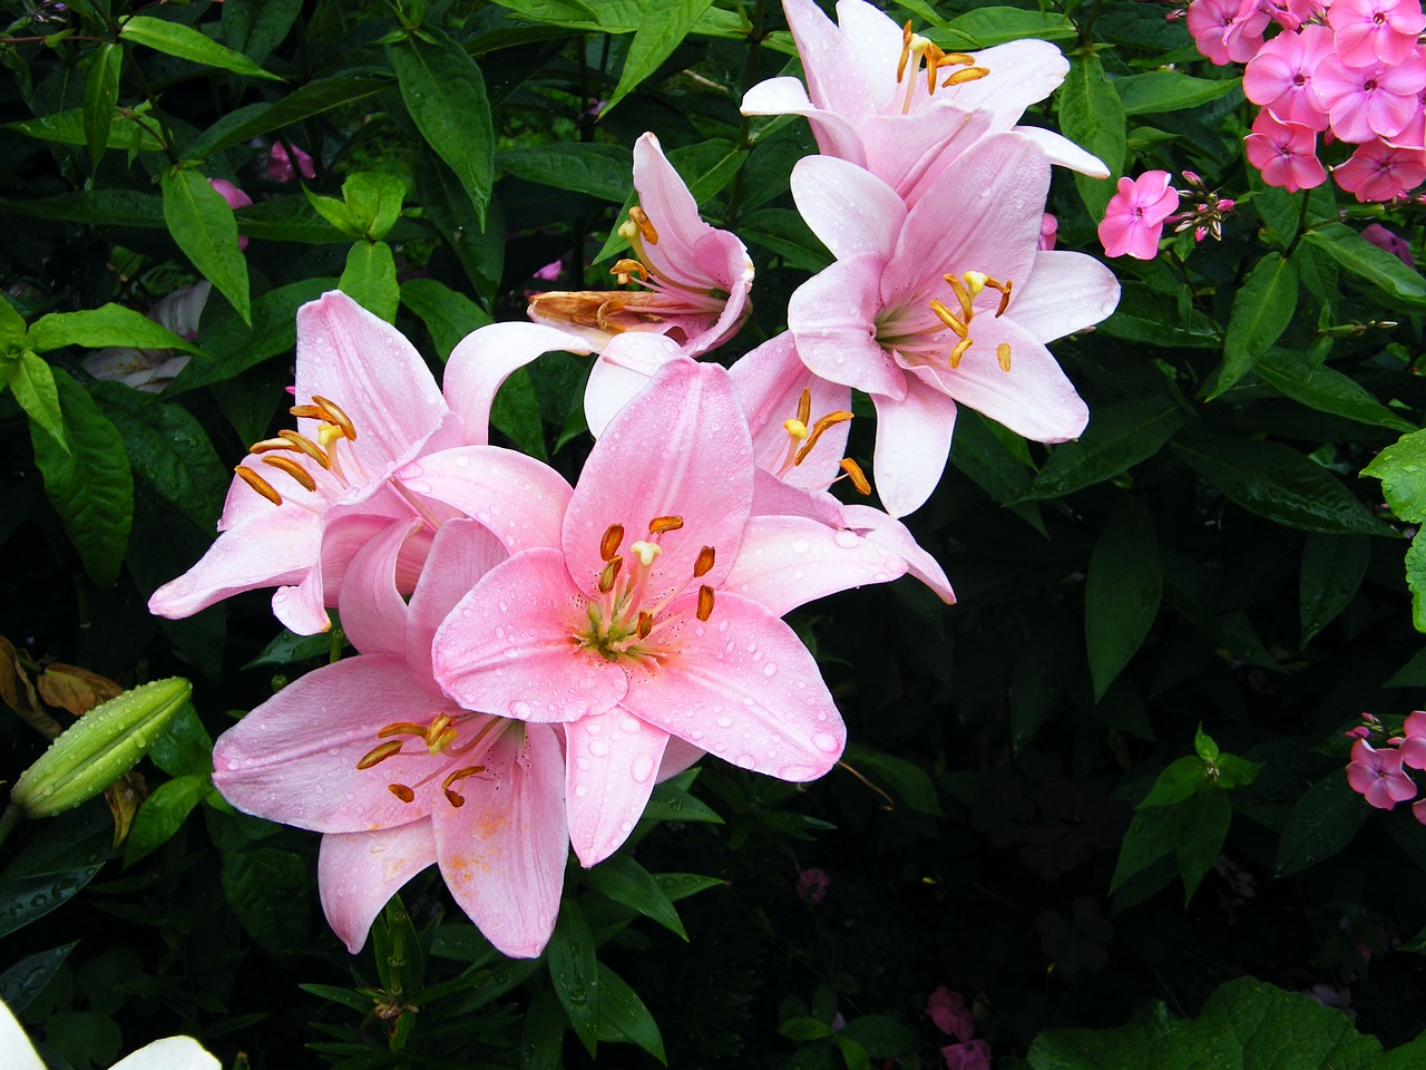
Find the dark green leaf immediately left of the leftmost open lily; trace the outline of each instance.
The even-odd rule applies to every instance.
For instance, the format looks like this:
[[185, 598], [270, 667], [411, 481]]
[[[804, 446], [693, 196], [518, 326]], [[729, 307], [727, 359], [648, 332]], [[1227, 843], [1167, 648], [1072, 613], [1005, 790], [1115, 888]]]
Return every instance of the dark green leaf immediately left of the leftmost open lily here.
[[211, 532], [232, 472], [202, 424], [183, 405], [121, 382], [96, 382], [90, 391], [123, 434], [134, 475], [200, 531]]

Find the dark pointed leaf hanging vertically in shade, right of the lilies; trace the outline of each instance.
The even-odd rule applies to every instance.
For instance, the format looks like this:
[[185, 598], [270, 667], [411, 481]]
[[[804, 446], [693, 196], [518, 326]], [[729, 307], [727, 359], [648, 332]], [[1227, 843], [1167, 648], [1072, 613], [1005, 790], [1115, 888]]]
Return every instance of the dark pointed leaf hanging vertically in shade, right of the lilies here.
[[1095, 541], [1085, 578], [1085, 652], [1095, 702], [1142, 645], [1162, 596], [1154, 518], [1141, 499], [1131, 498], [1114, 511]]

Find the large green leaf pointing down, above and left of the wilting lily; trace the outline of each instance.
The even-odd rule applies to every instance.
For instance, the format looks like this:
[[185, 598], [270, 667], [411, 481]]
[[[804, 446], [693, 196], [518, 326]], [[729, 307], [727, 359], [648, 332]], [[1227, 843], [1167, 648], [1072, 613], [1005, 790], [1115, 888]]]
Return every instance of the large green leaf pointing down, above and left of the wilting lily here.
[[481, 224], [495, 184], [495, 130], [485, 78], [465, 50], [429, 27], [432, 44], [408, 37], [391, 46], [401, 98], [421, 136], [461, 181]]

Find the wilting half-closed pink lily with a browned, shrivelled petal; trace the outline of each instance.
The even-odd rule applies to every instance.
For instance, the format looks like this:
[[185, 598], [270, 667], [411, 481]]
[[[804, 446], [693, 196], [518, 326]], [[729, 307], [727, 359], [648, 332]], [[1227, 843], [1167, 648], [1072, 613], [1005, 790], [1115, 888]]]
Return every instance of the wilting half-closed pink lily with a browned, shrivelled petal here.
[[536, 294], [530, 320], [570, 331], [595, 351], [625, 331], [667, 335], [689, 357], [717, 348], [752, 312], [747, 248], [703, 223], [653, 134], [635, 143], [633, 187], [639, 204], [619, 228], [633, 257], [616, 261], [610, 274], [639, 288]]

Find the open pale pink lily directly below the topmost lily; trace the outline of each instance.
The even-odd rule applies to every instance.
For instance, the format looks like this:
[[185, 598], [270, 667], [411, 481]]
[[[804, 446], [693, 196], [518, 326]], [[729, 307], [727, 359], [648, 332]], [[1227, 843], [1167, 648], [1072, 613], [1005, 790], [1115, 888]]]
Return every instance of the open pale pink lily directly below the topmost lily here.
[[883, 505], [930, 496], [957, 404], [1041, 442], [1078, 435], [1088, 409], [1045, 342], [1114, 311], [1119, 285], [1079, 253], [1038, 250], [1050, 165], [1020, 134], [985, 138], [910, 210], [890, 185], [807, 157], [791, 187], [837, 257], [789, 301], [807, 368], [871, 395]]

